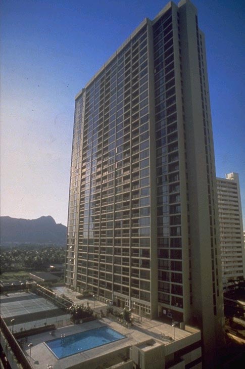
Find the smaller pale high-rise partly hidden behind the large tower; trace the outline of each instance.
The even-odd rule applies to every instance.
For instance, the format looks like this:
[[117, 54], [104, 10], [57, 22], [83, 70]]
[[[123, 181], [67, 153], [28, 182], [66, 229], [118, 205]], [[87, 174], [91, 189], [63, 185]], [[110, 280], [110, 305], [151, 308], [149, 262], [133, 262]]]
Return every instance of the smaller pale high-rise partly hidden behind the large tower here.
[[245, 278], [239, 176], [229, 173], [217, 178], [223, 288], [229, 280]]

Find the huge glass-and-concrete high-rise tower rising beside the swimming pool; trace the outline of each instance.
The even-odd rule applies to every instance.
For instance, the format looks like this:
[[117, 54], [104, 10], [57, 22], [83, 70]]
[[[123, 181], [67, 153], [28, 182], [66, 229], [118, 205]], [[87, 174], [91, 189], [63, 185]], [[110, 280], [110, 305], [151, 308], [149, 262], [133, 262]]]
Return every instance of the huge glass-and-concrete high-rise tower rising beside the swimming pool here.
[[[205, 37], [195, 7], [144, 19], [75, 98], [66, 283], [222, 337]], [[211, 356], [210, 356], [211, 357]]]

